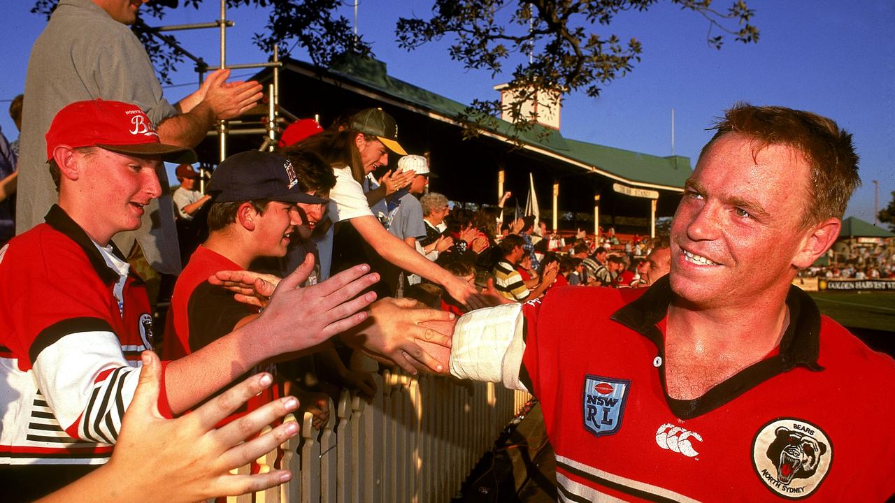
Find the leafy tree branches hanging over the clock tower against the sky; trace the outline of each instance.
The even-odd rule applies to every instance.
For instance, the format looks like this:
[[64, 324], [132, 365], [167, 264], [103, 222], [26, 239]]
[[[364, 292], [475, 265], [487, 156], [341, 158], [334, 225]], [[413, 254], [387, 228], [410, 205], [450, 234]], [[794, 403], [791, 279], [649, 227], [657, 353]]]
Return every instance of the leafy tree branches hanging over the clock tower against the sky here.
[[[498, 100], [476, 100], [458, 117], [470, 128], [466, 134], [474, 134], [487, 127], [483, 117], [507, 107], [521, 134], [534, 125], [533, 115], [522, 112], [534, 91], [584, 90], [595, 98], [603, 86], [631, 72], [644, 47], [636, 38], [623, 43], [614, 34], [604, 35], [600, 27], [609, 26], [620, 12], [643, 12], [656, 1], [435, 0], [430, 19], [401, 18], [395, 34], [399, 47], [407, 50], [453, 37], [450, 57], [466, 69], [489, 70], [492, 77], [503, 73], [514, 55], [530, 55], [529, 63], [516, 65], [508, 83], [516, 102], [501, 106]], [[712, 0], [671, 1], [706, 19], [706, 41], [713, 47], [720, 48], [730, 35], [743, 43], [758, 40], [759, 31], [750, 23], [754, 11], [744, 0], [734, 1], [726, 13], [713, 10]]]

